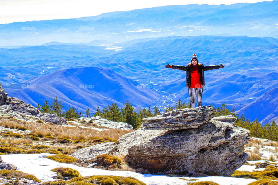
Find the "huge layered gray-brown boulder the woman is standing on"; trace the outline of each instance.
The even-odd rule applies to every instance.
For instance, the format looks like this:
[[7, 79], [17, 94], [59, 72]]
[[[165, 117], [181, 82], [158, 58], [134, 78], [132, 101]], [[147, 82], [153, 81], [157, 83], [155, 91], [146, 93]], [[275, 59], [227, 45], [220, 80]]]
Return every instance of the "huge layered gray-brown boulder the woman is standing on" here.
[[231, 175], [248, 155], [247, 129], [235, 126], [235, 117], [213, 117], [211, 106], [178, 109], [143, 119], [141, 127], [121, 136], [116, 152], [134, 169], [155, 174], [216, 172]]

